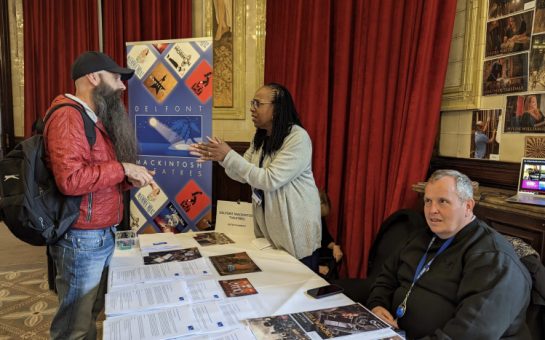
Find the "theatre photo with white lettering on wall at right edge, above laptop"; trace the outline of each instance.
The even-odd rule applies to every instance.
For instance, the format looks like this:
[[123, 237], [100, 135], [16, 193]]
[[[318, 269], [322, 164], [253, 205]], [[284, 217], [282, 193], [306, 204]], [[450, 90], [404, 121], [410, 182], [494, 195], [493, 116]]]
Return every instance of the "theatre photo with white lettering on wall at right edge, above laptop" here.
[[508, 96], [504, 132], [545, 133], [545, 94]]

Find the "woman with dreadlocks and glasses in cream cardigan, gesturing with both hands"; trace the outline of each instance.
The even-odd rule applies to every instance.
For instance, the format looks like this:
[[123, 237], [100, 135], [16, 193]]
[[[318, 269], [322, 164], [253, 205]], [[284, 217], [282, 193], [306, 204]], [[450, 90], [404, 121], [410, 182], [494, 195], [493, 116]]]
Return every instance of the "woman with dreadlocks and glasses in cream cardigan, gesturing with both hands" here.
[[193, 144], [199, 161], [218, 161], [232, 179], [252, 187], [254, 231], [318, 271], [320, 197], [312, 175], [312, 144], [289, 91], [270, 83], [250, 101], [256, 133], [240, 156], [219, 138]]

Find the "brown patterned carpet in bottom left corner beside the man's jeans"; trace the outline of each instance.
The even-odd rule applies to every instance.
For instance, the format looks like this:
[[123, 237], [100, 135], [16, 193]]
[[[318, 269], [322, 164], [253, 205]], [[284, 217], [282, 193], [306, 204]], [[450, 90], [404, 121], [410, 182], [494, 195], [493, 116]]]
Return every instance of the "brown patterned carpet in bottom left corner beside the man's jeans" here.
[[0, 340], [49, 339], [57, 305], [43, 264], [18, 270], [0, 267]]

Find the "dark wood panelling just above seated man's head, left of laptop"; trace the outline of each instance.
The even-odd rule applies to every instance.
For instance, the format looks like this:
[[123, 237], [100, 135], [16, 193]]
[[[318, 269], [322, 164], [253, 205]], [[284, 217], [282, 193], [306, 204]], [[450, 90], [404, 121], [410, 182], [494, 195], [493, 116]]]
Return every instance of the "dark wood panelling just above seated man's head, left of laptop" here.
[[458, 170], [482, 186], [517, 190], [520, 163], [433, 157], [430, 162], [429, 174], [438, 169]]

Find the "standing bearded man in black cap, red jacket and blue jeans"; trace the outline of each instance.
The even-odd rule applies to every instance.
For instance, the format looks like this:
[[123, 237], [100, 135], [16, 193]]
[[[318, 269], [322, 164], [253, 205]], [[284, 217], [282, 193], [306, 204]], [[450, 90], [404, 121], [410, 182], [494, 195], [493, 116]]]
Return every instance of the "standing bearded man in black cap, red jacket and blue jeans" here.
[[76, 94], [51, 104], [79, 105], [95, 122], [95, 144], [85, 136], [83, 117], [72, 106], [50, 113], [44, 140], [48, 164], [59, 190], [82, 196], [80, 214], [48, 252], [55, 262], [59, 309], [52, 339], [95, 339], [96, 317], [104, 306], [114, 233], [123, 216], [124, 190], [155, 186], [153, 171], [134, 164], [136, 138], [126, 114], [122, 81], [134, 70], [100, 52], [85, 52], [72, 65]]

